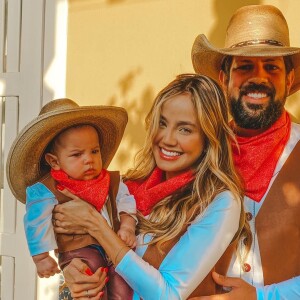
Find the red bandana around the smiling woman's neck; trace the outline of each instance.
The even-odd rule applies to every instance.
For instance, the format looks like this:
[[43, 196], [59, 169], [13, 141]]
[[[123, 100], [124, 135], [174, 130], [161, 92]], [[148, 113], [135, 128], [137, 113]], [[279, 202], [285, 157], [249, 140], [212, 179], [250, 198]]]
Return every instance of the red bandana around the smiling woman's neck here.
[[144, 181], [126, 181], [129, 192], [134, 196], [137, 209], [147, 216], [160, 200], [172, 195], [176, 190], [194, 179], [192, 171], [187, 171], [163, 181], [164, 172], [155, 168]]

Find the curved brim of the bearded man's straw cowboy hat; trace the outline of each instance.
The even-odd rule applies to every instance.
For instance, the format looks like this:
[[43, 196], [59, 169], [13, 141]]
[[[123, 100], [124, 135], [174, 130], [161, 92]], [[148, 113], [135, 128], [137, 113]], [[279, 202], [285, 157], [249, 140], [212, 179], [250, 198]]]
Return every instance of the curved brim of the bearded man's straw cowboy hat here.
[[300, 89], [300, 48], [251, 45], [218, 49], [209, 43], [204, 34], [198, 35], [195, 39], [192, 47], [192, 63], [196, 73], [204, 74], [219, 82], [219, 73], [225, 56], [291, 56], [295, 69], [295, 80], [289, 95]]

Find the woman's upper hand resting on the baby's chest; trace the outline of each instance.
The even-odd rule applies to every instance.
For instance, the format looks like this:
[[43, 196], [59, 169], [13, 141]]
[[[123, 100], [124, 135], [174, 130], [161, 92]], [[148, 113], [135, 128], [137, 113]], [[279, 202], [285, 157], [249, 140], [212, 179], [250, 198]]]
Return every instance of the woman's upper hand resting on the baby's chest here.
[[[99, 222], [97, 219], [100, 214], [92, 205], [73, 195], [68, 190], [64, 189], [60, 190], [60, 192], [71, 198], [72, 201], [55, 206], [53, 210], [53, 227], [55, 232], [65, 234], [88, 233], [89, 229], [93, 229], [94, 224]], [[95, 215], [97, 217], [94, 217]]]

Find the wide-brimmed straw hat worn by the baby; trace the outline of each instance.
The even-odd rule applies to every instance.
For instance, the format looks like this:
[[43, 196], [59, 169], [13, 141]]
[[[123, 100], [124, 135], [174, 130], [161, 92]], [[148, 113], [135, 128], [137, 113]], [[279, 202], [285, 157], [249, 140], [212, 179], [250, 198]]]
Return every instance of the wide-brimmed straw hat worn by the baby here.
[[79, 106], [70, 99], [46, 104], [39, 116], [16, 137], [10, 148], [6, 173], [14, 196], [26, 202], [26, 187], [49, 172], [44, 152], [52, 139], [63, 130], [78, 124], [94, 126], [99, 134], [103, 168], [107, 168], [121, 142], [128, 116], [115, 106]]

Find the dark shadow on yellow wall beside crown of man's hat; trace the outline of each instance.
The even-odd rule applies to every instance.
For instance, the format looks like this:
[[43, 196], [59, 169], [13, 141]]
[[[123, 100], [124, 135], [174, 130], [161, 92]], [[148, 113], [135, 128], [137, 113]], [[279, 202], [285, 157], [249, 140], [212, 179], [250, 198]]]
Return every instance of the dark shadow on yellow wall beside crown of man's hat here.
[[208, 39], [216, 47], [224, 47], [225, 34], [228, 22], [233, 13], [246, 5], [262, 4], [260, 0], [215, 0], [214, 12], [216, 16], [215, 26], [212, 28]]

